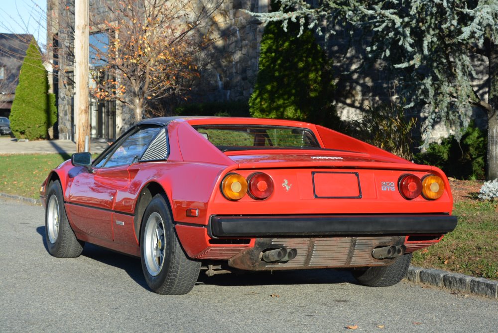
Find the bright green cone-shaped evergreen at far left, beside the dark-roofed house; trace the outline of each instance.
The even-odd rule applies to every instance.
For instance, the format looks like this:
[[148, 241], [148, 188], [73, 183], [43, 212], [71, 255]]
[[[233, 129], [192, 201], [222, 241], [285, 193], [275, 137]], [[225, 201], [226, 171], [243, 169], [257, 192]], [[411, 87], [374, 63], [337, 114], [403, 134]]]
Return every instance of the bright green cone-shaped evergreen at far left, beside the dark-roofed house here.
[[9, 117], [10, 129], [16, 138], [36, 140], [47, 137], [48, 128], [57, 120], [55, 99], [52, 107], [52, 97], [47, 92], [47, 71], [36, 41], [32, 39], [21, 66]]

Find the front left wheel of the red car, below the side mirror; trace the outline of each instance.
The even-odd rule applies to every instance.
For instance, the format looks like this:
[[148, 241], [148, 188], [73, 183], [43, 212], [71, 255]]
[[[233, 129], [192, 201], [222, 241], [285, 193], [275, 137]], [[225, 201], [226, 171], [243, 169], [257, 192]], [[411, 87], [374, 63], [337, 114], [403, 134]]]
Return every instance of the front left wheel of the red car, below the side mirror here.
[[85, 242], [76, 238], [67, 220], [62, 187], [58, 180], [48, 186], [45, 209], [45, 240], [48, 252], [57, 258], [76, 258]]

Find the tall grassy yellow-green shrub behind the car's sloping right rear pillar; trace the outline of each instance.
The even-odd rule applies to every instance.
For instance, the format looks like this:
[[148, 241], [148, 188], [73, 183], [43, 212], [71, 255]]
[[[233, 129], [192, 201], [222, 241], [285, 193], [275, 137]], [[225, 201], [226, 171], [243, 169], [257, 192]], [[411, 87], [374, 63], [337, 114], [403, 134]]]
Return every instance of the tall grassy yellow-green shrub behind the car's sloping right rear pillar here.
[[369, 107], [359, 120], [351, 121], [345, 131], [357, 139], [411, 160], [412, 130], [416, 122], [416, 118], [405, 117], [401, 105], [381, 104]]

